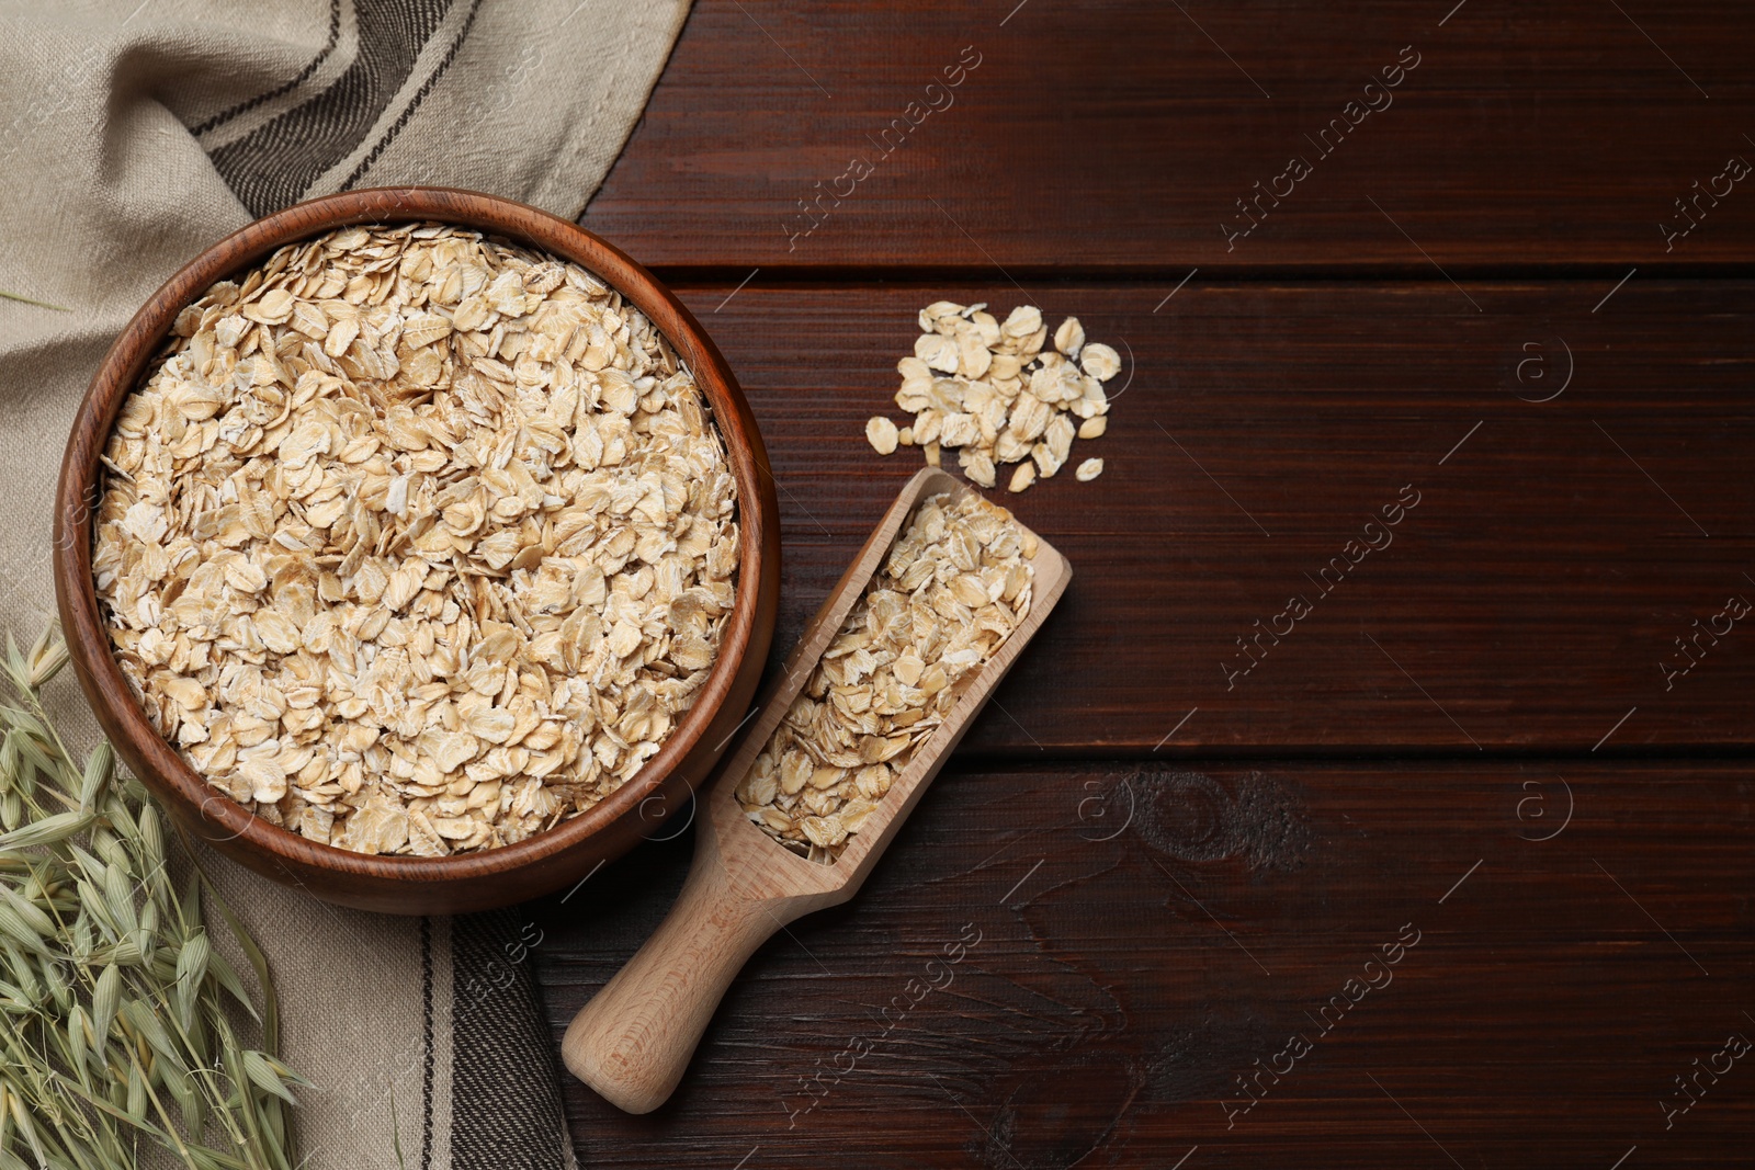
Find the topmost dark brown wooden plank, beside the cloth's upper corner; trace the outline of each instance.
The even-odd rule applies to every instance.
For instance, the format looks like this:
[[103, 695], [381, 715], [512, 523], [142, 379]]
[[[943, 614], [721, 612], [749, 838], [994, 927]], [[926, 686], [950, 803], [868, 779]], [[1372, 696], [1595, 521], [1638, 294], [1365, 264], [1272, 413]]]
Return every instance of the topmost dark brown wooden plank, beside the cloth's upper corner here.
[[1748, 5], [1014, 5], [698, 4], [586, 226], [746, 268], [1755, 258], [1746, 181], [1658, 226], [1755, 163]]

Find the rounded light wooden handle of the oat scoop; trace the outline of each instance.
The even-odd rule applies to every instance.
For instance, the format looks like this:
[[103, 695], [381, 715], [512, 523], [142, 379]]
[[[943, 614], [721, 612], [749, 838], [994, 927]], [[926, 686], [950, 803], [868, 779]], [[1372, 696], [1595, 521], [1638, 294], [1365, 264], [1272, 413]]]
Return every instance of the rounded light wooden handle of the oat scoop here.
[[572, 1017], [562, 1040], [567, 1068], [618, 1109], [658, 1109], [683, 1079], [732, 979], [807, 909], [793, 898], [737, 889], [716, 851], [697, 847], [670, 914]]

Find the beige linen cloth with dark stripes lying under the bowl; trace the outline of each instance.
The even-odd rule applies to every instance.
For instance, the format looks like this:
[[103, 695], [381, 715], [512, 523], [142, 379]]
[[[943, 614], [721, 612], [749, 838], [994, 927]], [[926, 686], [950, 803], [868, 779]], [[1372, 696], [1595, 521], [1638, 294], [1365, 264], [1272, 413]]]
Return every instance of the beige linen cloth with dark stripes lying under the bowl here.
[[[0, 300], [0, 626], [28, 644], [54, 612], [49, 509], [68, 424], [161, 281], [251, 218], [342, 188], [476, 188], [577, 218], [688, 7], [0, 0], [0, 291], [58, 307]], [[95, 735], [72, 681], [54, 695]], [[453, 937], [479, 923], [337, 910], [211, 868], [276, 963], [288, 1061], [318, 1084], [300, 1112], [312, 1170], [397, 1166], [391, 1103], [407, 1166], [558, 1165], [502, 1138], [484, 1156], [481, 1133], [448, 1124], [453, 1037], [490, 1003], [463, 993]]]

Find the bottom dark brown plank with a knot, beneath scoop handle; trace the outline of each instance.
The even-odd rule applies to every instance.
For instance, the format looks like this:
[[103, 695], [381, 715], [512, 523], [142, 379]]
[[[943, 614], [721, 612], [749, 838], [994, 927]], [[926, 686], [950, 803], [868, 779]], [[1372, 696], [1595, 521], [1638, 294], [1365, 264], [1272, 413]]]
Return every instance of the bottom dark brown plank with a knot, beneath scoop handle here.
[[[1751, 809], [1732, 765], [948, 770], [669, 1105], [569, 1082], [572, 1133], [600, 1166], [1743, 1165], [1750, 1056], [1660, 1102], [1755, 1040]], [[556, 1038], [686, 854], [532, 907]], [[1292, 1070], [1244, 1112], [1257, 1059]]]

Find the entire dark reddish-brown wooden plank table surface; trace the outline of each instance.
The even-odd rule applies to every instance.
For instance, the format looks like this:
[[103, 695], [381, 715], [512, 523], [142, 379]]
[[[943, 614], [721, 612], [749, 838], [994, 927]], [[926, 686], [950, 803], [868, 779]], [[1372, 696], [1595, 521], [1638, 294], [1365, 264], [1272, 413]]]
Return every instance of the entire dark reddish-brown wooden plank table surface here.
[[[584, 216], [755, 405], [776, 661], [916, 309], [1130, 367], [1007, 500], [1060, 610], [665, 1109], [569, 1082], [583, 1161], [1746, 1165], [1750, 9], [1014, 4], [700, 0]], [[532, 907], [556, 1040], [688, 853]]]

